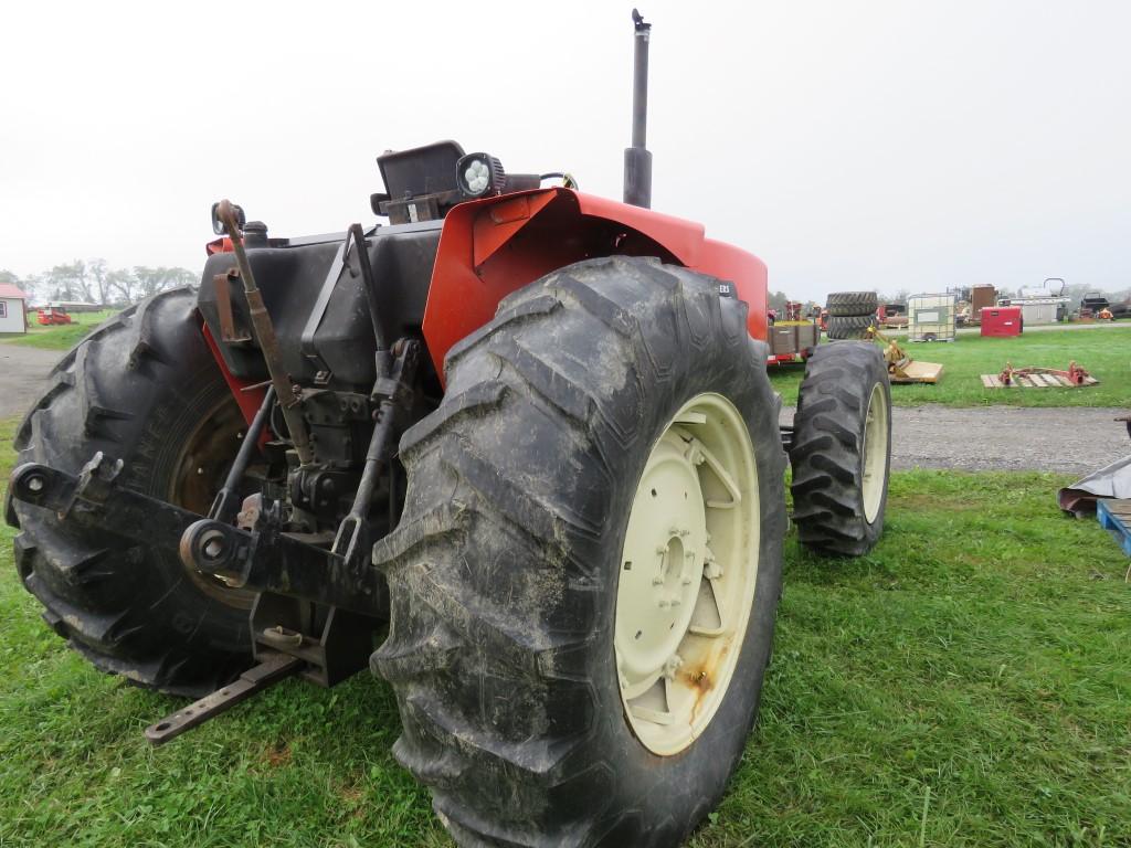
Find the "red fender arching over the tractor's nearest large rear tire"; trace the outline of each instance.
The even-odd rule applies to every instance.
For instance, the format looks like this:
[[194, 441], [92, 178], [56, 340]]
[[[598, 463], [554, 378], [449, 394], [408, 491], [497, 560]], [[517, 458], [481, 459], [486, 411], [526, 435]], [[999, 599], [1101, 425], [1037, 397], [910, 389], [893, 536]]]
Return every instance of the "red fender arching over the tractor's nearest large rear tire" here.
[[474, 200], [443, 222], [424, 310], [424, 340], [443, 357], [494, 318], [499, 301], [551, 271], [604, 256], [659, 257], [734, 284], [748, 328], [766, 340], [766, 263], [703, 235], [703, 226], [614, 200], [552, 188]]

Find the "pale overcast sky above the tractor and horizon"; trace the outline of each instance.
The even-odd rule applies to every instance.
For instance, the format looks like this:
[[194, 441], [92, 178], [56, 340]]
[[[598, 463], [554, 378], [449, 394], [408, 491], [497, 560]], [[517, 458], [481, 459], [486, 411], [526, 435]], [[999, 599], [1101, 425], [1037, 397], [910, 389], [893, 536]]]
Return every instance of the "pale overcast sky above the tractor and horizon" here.
[[[640, 0], [654, 208], [829, 291], [1131, 286], [1131, 3]], [[619, 198], [624, 2], [8, 3], [0, 268], [372, 223], [441, 138]]]

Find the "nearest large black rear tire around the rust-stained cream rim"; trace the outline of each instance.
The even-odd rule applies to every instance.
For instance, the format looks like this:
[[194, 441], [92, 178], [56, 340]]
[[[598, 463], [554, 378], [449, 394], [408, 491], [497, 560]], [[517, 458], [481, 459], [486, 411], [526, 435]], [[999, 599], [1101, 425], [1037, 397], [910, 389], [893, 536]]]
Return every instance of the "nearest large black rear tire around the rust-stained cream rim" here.
[[[628, 258], [579, 262], [530, 284], [448, 353], [442, 404], [400, 441], [400, 525], [374, 547], [391, 622], [372, 666], [397, 694], [394, 754], [431, 788], [458, 845], [668, 848], [719, 801], [754, 721], [780, 591], [785, 455], [765, 361], [745, 304], [720, 297], [717, 280]], [[630, 514], [644, 503], [645, 536], [657, 526], [676, 533], [650, 507], [642, 475], [662, 444], [670, 450], [663, 440], [673, 427], [706, 432], [708, 415], [685, 412], [703, 398], [703, 409], [734, 410], [728, 432], [746, 451], [726, 456], [757, 470], [733, 479], [753, 482], [744, 500], [726, 502], [717, 477], [702, 491], [692, 485], [689, 500], [677, 486], [656, 503], [674, 497], [681, 510], [715, 486], [719, 500], [700, 502], [719, 510], [711, 520], [731, 520], [718, 518], [724, 507], [749, 517], [749, 535], [711, 525], [706, 537], [715, 553], [734, 539], [749, 546], [727, 564], [751, 576], [752, 595], [734, 594], [749, 615], [723, 649], [729, 665], [665, 666], [673, 690], [698, 687], [697, 706], [685, 726], [672, 722], [672, 736], [646, 742], [646, 729], [683, 713], [665, 699], [657, 713], [633, 702], [630, 716], [629, 695], [622, 700], [620, 646], [633, 637], [621, 626], [621, 605], [631, 603], [619, 587], [665, 588], [651, 572], [659, 550], [648, 544], [627, 577], [628, 552], [640, 550], [627, 542]], [[674, 466], [699, 456], [699, 435], [680, 438]], [[675, 548], [663, 550], [662, 572], [665, 562], [689, 562], [694, 573], [675, 590], [702, 591], [710, 551], [700, 548], [706, 560], [697, 562], [690, 542], [670, 561]], [[700, 612], [700, 596], [691, 597], [680, 607], [689, 620]], [[737, 608], [717, 597], [715, 606], [719, 620]], [[665, 622], [649, 638], [672, 630]], [[699, 632], [691, 626], [688, 638]], [[687, 738], [698, 704], [714, 712]], [[680, 750], [656, 753], [665, 746]]]

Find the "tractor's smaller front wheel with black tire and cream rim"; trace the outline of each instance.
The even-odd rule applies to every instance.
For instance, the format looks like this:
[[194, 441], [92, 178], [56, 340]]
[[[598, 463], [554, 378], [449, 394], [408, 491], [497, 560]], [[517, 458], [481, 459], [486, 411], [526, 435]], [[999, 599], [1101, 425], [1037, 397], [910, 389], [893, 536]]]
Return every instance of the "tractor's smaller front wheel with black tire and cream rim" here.
[[883, 533], [891, 387], [879, 348], [821, 345], [805, 364], [789, 449], [793, 520], [821, 554], [862, 556]]

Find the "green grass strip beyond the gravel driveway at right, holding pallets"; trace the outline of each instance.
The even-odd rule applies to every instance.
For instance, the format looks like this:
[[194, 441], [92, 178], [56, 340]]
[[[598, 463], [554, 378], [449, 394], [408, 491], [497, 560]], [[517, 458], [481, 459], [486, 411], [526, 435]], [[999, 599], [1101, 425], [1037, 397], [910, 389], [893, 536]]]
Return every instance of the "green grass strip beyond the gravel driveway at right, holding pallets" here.
[[[915, 360], [946, 366], [934, 386], [892, 386], [897, 406], [1126, 406], [1131, 386], [1131, 322], [1083, 330], [1042, 330], [1017, 338], [982, 338], [962, 334], [957, 341], [899, 344]], [[1013, 367], [1039, 365], [1067, 369], [1070, 360], [1099, 380], [1079, 389], [986, 389], [981, 374], [996, 374], [1007, 362]], [[803, 366], [770, 369], [774, 388], [786, 404], [797, 403]]]

